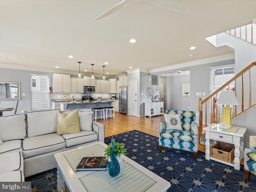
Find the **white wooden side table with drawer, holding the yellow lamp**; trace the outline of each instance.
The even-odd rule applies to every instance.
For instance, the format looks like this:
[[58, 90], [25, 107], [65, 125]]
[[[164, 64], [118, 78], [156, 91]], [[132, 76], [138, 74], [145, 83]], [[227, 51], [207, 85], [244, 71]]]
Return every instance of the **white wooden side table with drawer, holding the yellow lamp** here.
[[[244, 134], [246, 132], [246, 128], [243, 127], [235, 127], [238, 128], [237, 132], [229, 132], [221, 130], [219, 124], [210, 124], [209, 126], [203, 128], [205, 130], [205, 159], [214, 160], [220, 163], [224, 163], [230, 166], [233, 166], [234, 169], [240, 170], [240, 161], [244, 156]], [[228, 163], [222, 160], [218, 160], [216, 158], [212, 158], [210, 156], [210, 147], [216, 143], [216, 141], [226, 142], [230, 144], [234, 144], [234, 162]]]

